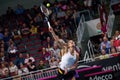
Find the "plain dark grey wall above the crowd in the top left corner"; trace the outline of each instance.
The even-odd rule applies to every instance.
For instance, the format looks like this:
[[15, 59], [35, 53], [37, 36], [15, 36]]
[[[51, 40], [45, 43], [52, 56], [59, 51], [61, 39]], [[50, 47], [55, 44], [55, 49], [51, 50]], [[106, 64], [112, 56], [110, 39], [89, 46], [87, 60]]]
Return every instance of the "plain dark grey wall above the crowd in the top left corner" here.
[[5, 14], [8, 7], [16, 9], [17, 4], [24, 8], [32, 8], [34, 5], [40, 5], [43, 0], [0, 0], [0, 15]]

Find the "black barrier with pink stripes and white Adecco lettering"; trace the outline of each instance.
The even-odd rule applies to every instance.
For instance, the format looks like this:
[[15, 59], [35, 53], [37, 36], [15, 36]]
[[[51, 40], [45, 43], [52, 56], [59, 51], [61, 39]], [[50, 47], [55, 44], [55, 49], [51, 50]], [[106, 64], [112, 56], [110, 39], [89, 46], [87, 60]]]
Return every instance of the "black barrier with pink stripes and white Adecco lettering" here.
[[[91, 67], [77, 69], [76, 80], [120, 80], [120, 56], [80, 65]], [[38, 80], [56, 80], [56, 75]]]

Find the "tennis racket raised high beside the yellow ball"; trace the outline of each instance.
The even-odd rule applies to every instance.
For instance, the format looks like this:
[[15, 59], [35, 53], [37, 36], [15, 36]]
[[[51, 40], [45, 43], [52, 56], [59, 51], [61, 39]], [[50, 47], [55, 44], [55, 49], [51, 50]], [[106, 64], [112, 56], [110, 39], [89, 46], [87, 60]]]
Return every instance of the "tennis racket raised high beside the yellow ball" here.
[[48, 20], [48, 17], [51, 14], [51, 12], [43, 4], [41, 4], [40, 9], [41, 9], [41, 12], [45, 15], [45, 19], [47, 21], [48, 27], [50, 28], [51, 26], [50, 26], [50, 22]]

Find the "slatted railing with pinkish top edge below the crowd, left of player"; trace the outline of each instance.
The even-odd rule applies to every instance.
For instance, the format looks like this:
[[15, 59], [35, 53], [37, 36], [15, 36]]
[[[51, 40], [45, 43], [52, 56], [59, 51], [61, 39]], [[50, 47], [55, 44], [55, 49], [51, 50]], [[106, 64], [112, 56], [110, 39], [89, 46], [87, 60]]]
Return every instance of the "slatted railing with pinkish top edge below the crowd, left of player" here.
[[57, 75], [57, 67], [54, 68], [46, 68], [42, 70], [37, 70], [29, 73], [24, 73], [21, 75], [11, 76], [7, 78], [3, 78], [0, 80], [9, 80], [9, 79], [15, 79], [15, 80], [37, 80], [37, 79], [43, 79], [45, 77], [52, 77]]

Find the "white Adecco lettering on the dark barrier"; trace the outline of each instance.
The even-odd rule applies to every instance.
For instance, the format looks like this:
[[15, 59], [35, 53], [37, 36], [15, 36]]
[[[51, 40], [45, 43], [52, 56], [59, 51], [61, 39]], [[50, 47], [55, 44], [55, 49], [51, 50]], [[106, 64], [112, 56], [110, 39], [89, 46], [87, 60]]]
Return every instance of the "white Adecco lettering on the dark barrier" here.
[[112, 80], [113, 75], [112, 74], [105, 74], [105, 75], [100, 75], [100, 76], [94, 76], [94, 77], [89, 77], [89, 80]]

